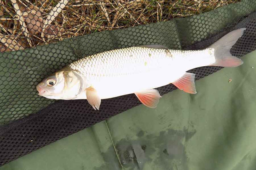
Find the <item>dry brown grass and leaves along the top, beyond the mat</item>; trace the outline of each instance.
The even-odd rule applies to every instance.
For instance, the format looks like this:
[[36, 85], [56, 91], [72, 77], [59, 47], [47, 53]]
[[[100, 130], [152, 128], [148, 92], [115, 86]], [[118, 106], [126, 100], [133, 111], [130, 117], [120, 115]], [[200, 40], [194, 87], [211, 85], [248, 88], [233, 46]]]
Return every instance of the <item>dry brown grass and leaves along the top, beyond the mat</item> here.
[[0, 0], [0, 50], [167, 21], [241, 0]]

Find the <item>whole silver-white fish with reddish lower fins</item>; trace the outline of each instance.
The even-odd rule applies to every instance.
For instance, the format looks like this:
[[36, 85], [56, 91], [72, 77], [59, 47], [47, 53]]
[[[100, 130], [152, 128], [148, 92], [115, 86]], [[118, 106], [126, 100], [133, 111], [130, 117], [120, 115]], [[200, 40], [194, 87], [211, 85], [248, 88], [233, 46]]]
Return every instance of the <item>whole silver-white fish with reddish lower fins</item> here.
[[195, 74], [202, 66], [237, 67], [243, 61], [230, 49], [245, 28], [224, 35], [207, 48], [176, 50], [162, 45], [140, 45], [85, 56], [44, 78], [39, 96], [55, 100], [86, 99], [94, 110], [101, 100], [135, 94], [145, 106], [156, 108], [160, 93], [155, 89], [173, 84], [196, 94]]

